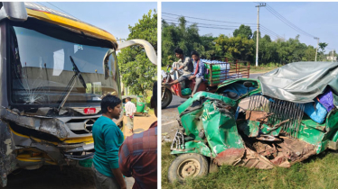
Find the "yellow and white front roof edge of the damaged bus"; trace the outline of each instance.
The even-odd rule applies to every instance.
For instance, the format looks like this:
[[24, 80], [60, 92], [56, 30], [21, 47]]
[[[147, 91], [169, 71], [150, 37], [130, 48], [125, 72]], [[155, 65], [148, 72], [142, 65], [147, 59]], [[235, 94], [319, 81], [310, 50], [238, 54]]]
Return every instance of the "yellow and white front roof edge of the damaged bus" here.
[[117, 47], [117, 39], [108, 31], [104, 31], [89, 23], [81, 22], [79, 19], [74, 18], [69, 14], [63, 14], [46, 6], [33, 4], [31, 2], [25, 2], [24, 4], [26, 6], [28, 16], [37, 18], [44, 22], [54, 23], [71, 29], [83, 31], [84, 33], [89, 33], [99, 39], [109, 40], [115, 47]]

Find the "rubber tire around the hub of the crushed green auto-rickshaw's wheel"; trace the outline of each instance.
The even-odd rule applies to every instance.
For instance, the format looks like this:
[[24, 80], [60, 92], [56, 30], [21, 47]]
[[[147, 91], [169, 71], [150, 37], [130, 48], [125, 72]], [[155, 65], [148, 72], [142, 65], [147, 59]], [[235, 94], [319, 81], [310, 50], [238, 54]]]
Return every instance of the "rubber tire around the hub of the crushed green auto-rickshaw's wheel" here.
[[[194, 171], [193, 168], [199, 168], [198, 173], [194, 173], [191, 176], [203, 176], [207, 175], [209, 172], [209, 162], [206, 157], [202, 156], [201, 154], [196, 153], [189, 153], [189, 154], [182, 154], [174, 159], [172, 164], [168, 168], [168, 181], [169, 183], [173, 183], [177, 180], [180, 183], [183, 183], [184, 178], [183, 176], [179, 175], [179, 169], [184, 168], [185, 166], [189, 166], [191, 161], [195, 162], [192, 167], [192, 173]], [[199, 165], [196, 165], [198, 162]], [[190, 175], [188, 175], [190, 176]]]

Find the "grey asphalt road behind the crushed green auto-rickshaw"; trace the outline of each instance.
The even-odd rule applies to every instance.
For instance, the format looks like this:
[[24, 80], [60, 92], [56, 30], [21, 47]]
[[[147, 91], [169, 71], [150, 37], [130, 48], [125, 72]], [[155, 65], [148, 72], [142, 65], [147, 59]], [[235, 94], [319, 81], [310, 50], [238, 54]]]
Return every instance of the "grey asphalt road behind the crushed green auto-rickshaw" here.
[[[261, 76], [260, 74], [250, 74], [250, 78], [257, 78]], [[178, 129], [179, 114], [177, 111], [177, 107], [185, 102], [185, 98], [180, 98], [178, 96], [173, 96], [173, 101], [162, 110], [162, 141], [171, 141], [174, 138], [174, 134]], [[247, 103], [244, 99], [241, 103]], [[240, 105], [239, 105], [240, 106]]]

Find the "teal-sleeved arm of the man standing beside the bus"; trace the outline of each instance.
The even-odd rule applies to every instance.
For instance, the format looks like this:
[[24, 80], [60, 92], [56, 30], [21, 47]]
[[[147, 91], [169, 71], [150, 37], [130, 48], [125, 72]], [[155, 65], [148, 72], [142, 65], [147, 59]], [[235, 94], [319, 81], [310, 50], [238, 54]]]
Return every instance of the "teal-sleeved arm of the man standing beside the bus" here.
[[117, 131], [117, 127], [112, 127], [111, 125], [107, 125], [104, 130], [104, 138], [106, 144], [106, 156], [108, 158], [110, 169], [117, 179], [117, 183], [121, 188], [127, 188], [125, 180], [123, 179], [123, 175], [118, 167], [118, 138], [119, 133]]

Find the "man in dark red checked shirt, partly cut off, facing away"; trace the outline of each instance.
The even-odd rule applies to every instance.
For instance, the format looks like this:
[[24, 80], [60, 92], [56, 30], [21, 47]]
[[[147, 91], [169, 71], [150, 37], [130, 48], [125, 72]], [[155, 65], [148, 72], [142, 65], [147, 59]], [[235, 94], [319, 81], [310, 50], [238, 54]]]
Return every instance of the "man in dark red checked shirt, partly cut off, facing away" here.
[[[157, 117], [157, 82], [150, 100]], [[133, 189], [157, 188], [157, 121], [149, 130], [128, 137], [119, 148], [118, 165], [123, 175], [133, 176]]]

